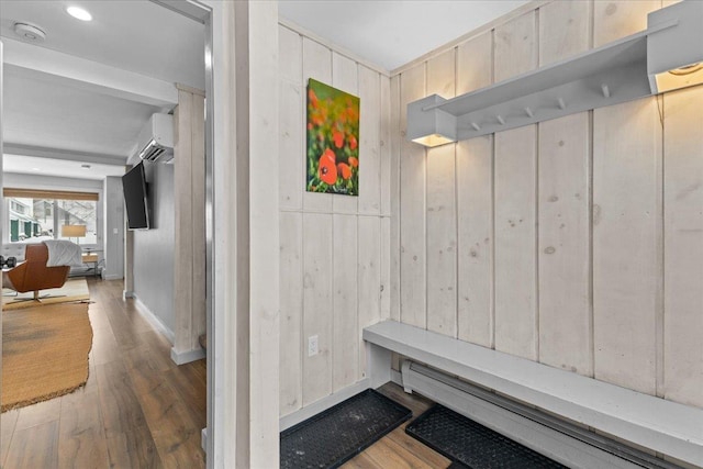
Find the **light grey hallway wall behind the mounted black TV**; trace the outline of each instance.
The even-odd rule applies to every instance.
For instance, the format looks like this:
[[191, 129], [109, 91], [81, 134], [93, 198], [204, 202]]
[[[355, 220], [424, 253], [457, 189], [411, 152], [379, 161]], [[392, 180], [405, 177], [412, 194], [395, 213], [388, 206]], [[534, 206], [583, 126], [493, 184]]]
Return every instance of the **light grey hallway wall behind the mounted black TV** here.
[[145, 164], [149, 230], [134, 231], [133, 271], [136, 298], [174, 336], [174, 166]]

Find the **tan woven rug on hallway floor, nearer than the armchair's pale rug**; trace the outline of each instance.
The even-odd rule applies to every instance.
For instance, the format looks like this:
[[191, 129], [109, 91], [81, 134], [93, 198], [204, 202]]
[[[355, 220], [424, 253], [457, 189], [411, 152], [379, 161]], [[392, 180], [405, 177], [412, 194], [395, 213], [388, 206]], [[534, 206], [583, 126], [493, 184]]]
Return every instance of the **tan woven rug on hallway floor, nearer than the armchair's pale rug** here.
[[2, 412], [67, 394], [88, 380], [88, 304], [2, 313]]

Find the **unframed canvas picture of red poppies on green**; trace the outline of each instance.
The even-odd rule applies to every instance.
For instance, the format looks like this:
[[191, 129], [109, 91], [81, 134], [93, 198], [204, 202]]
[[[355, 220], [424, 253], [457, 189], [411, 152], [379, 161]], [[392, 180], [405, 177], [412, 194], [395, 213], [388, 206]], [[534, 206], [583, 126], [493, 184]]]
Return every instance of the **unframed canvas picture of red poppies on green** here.
[[359, 98], [308, 82], [308, 192], [359, 194]]

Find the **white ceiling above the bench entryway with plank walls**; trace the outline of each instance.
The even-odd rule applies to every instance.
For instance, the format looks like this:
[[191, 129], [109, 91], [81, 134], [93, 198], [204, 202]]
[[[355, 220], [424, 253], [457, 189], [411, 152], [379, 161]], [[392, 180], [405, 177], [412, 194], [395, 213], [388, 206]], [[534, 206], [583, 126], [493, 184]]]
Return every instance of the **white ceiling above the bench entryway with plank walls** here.
[[387, 70], [493, 21], [525, 0], [281, 0], [279, 15]]

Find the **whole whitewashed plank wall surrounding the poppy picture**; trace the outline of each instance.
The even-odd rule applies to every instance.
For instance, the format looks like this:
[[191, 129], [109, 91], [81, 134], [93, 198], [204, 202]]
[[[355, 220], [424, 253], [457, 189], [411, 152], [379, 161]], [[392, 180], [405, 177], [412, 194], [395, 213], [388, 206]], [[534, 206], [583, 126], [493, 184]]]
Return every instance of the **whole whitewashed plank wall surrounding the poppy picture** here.
[[[365, 377], [361, 330], [391, 310], [388, 75], [279, 25], [280, 414]], [[308, 79], [360, 98], [359, 197], [308, 193]], [[395, 186], [397, 190], [398, 186]], [[316, 335], [319, 354], [308, 356]]]

